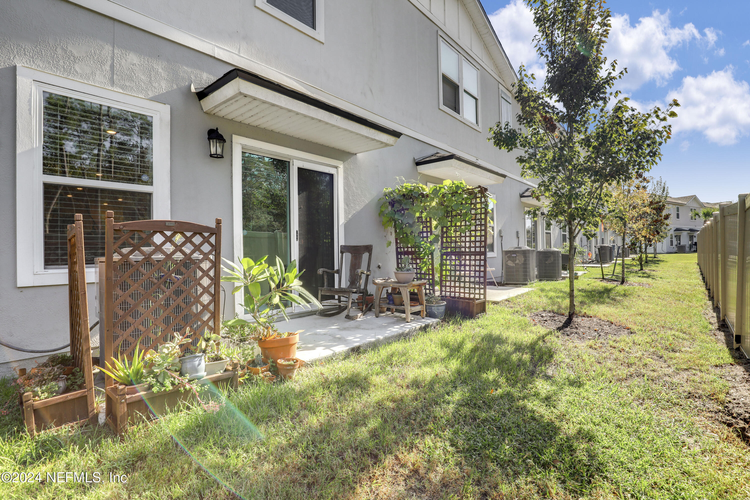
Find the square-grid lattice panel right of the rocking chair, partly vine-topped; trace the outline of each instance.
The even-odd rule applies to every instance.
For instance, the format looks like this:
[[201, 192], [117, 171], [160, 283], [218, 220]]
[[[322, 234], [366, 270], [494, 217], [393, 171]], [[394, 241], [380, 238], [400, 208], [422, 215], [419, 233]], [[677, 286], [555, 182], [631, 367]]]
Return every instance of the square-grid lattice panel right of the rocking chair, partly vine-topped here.
[[[470, 222], [441, 228], [440, 296], [485, 300], [487, 297], [487, 188], [473, 188]], [[449, 212], [449, 218], [452, 214]], [[468, 230], [461, 230], [469, 225]]]

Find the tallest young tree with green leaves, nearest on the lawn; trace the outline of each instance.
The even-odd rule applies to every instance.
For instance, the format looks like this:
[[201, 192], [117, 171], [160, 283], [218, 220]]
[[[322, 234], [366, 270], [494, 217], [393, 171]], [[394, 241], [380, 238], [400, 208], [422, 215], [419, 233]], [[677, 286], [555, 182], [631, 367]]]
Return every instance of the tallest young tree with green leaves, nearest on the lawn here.
[[[526, 0], [539, 35], [534, 43], [547, 67], [540, 88], [520, 66], [514, 97], [520, 104], [515, 130], [507, 122], [490, 128], [500, 149], [520, 149], [523, 176], [538, 179], [533, 190], [545, 211], [568, 227], [570, 252], [586, 226], [598, 224], [612, 183], [627, 182], [661, 158], [670, 137], [665, 122], [676, 101], [640, 113], [613, 91], [626, 70], [602, 55], [610, 31], [609, 9], [595, 0]], [[569, 273], [568, 317], [575, 312], [574, 272]]]

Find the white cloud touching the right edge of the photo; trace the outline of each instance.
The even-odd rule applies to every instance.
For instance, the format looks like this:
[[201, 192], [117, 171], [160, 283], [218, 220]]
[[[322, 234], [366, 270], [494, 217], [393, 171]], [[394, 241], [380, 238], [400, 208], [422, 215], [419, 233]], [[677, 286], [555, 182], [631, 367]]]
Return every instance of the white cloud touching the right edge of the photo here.
[[668, 100], [681, 104], [673, 131], [698, 131], [721, 146], [750, 134], [750, 85], [735, 80], [733, 73], [727, 66], [706, 76], [683, 78], [682, 86], [667, 94]]

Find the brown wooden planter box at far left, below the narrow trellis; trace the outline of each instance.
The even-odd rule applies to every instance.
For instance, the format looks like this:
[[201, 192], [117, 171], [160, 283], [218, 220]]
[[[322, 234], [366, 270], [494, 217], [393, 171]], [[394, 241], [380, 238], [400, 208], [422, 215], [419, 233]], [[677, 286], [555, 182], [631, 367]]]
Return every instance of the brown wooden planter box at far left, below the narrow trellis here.
[[89, 390], [81, 389], [72, 393], [33, 401], [31, 393], [24, 393], [23, 421], [26, 431], [34, 435], [44, 429], [52, 429], [66, 423], [81, 423], [94, 415], [89, 414]]

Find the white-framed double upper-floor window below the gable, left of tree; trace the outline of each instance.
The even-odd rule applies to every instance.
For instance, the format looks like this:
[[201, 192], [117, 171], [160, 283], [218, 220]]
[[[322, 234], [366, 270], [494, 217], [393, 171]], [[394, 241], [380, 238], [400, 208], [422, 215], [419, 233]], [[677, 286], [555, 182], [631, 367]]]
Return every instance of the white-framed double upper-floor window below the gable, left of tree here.
[[473, 125], [479, 124], [479, 71], [440, 40], [441, 104]]

